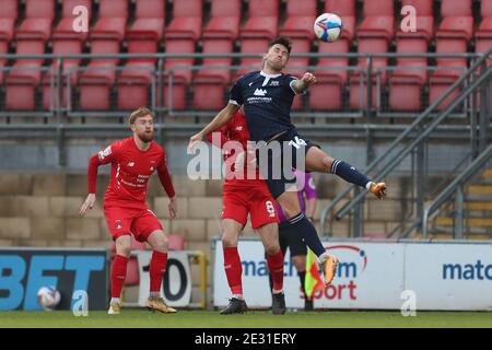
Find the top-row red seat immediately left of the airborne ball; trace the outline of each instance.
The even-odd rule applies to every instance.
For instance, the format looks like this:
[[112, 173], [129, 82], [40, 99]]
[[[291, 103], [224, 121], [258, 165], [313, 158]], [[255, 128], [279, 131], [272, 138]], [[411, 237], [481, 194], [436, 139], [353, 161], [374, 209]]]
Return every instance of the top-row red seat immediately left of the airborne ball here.
[[281, 35], [292, 38], [314, 39], [314, 20], [317, 18], [316, 0], [288, 0], [286, 19], [280, 31]]

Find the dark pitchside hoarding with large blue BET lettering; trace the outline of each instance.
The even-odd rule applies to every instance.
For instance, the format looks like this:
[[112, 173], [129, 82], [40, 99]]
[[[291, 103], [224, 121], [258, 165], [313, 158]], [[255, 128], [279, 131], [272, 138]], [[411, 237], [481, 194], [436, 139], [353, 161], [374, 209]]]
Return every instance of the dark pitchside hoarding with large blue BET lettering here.
[[0, 248], [0, 311], [42, 310], [37, 291], [52, 285], [61, 294], [57, 310], [71, 310], [75, 291], [89, 295], [89, 310], [108, 302], [106, 249]]

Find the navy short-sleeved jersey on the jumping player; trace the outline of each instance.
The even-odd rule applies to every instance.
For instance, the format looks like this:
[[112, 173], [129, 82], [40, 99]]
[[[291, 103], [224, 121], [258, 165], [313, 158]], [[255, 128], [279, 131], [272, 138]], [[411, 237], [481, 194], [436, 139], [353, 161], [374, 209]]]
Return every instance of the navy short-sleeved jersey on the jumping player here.
[[231, 89], [230, 103], [244, 105], [246, 124], [253, 141], [268, 141], [274, 135], [293, 130], [291, 106], [295, 96], [286, 74], [247, 73]]

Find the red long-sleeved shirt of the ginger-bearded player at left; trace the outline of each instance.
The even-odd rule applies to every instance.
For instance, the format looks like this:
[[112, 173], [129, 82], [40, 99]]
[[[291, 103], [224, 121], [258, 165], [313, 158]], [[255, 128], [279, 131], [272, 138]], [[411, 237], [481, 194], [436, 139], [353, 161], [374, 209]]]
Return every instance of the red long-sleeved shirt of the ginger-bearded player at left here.
[[89, 162], [89, 192], [95, 194], [97, 167], [112, 163], [110, 182], [104, 196], [105, 205], [144, 207], [149, 178], [157, 171], [167, 196], [175, 196], [173, 182], [166, 166], [165, 150], [151, 142], [147, 151], [140, 150], [133, 137], [113, 142], [94, 154]]

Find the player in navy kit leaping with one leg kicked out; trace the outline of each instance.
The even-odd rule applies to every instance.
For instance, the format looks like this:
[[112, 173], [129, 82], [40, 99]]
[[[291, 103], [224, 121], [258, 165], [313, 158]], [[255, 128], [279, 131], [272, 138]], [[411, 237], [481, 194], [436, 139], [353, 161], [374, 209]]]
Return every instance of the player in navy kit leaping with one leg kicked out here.
[[[259, 160], [260, 171], [263, 172], [270, 192], [282, 207], [293, 230], [300, 232], [306, 245], [323, 264], [325, 283], [328, 285], [337, 271], [338, 258], [326, 253], [316, 229], [302, 212], [295, 191], [295, 177], [283, 173], [280, 178], [272, 176], [272, 165], [278, 165], [279, 162], [290, 162], [282, 168], [290, 171], [290, 166], [293, 166], [301, 171], [336, 174], [349, 183], [368, 189], [380, 199], [386, 196], [386, 184], [373, 183], [354, 166], [332, 159], [318, 147], [298, 136], [290, 117], [292, 101], [295, 94], [305, 93], [316, 82], [316, 78], [309, 72], [304, 73], [301, 79], [283, 74], [282, 70], [289, 61], [290, 54], [291, 43], [286, 37], [281, 36], [271, 40], [263, 56], [262, 70], [239, 78], [231, 89], [229, 104], [206, 128], [190, 138], [188, 150], [191, 150], [197, 142], [202, 141], [206, 135], [226, 124], [241, 105], [244, 105], [251, 141], [262, 144], [257, 153], [261, 155], [261, 147], [265, 148], [265, 144], [271, 142], [288, 144], [291, 149], [289, 151], [292, 152], [286, 152], [283, 147], [281, 156], [272, 155], [271, 152], [267, 153], [266, 170], [262, 168], [261, 160]], [[298, 155], [302, 155], [305, 164], [296, 164], [295, 160], [300, 159]], [[294, 190], [288, 190], [289, 186], [294, 187]]]

